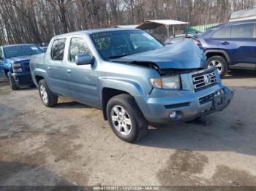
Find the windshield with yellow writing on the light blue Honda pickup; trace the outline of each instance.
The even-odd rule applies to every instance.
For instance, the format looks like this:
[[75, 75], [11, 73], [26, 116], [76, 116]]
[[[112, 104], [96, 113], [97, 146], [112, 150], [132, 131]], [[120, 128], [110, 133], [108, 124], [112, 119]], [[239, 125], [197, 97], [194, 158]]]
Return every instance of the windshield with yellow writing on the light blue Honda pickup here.
[[163, 45], [145, 31], [108, 31], [91, 34], [99, 54], [105, 60], [121, 58], [148, 50], [155, 50]]

